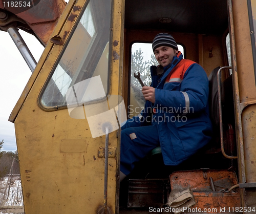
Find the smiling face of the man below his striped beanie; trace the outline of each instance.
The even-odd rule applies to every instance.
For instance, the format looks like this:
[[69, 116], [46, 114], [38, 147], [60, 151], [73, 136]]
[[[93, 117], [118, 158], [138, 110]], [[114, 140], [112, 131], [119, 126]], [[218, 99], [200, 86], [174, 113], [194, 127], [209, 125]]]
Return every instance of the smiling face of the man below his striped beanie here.
[[168, 66], [169, 63], [173, 61], [174, 56], [176, 56], [178, 50], [175, 50], [168, 46], [161, 46], [155, 49], [155, 57], [158, 63], [162, 66]]

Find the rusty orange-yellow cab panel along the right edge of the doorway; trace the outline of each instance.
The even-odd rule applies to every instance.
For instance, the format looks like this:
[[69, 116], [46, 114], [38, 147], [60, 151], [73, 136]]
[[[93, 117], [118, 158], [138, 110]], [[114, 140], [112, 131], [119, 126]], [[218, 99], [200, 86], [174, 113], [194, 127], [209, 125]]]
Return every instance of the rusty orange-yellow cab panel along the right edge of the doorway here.
[[[230, 44], [237, 123], [237, 145], [241, 205], [244, 213], [254, 212], [256, 201], [256, 3], [228, 1]], [[248, 208], [247, 208], [248, 207]], [[253, 209], [253, 210], [252, 210]]]

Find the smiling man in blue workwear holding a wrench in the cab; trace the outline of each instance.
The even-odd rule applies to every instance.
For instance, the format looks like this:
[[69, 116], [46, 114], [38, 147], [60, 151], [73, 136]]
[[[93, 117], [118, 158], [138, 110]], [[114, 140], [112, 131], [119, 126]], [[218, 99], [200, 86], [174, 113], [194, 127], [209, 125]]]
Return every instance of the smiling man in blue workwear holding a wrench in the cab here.
[[178, 165], [211, 139], [204, 69], [183, 59], [172, 35], [156, 35], [152, 48], [159, 66], [151, 67], [151, 86], [142, 88], [144, 110], [122, 126], [120, 180], [155, 147], [165, 165]]

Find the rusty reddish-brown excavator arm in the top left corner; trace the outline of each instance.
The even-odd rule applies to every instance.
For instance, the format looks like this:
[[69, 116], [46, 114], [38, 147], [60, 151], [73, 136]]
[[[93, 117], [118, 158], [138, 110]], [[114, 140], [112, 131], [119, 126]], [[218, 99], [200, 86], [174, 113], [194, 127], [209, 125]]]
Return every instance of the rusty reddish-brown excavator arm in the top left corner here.
[[10, 27], [22, 29], [46, 46], [67, 3], [63, 0], [26, 0], [21, 2], [23, 4], [18, 3], [0, 0], [0, 30], [7, 31]]

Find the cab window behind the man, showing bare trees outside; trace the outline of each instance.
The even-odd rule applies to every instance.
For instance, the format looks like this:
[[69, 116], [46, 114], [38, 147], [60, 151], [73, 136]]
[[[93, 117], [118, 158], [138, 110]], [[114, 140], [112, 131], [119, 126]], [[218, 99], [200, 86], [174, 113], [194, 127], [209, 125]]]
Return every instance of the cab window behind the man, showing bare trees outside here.
[[[178, 45], [179, 51], [184, 56], [184, 47]], [[131, 85], [130, 85], [130, 105], [128, 106], [129, 118], [138, 115], [144, 108], [145, 99], [141, 92], [141, 85], [134, 77], [134, 73], [140, 73], [140, 78], [147, 86], [151, 85], [150, 67], [158, 66], [158, 62], [152, 50], [151, 43], [136, 42], [132, 45], [131, 57]]]

